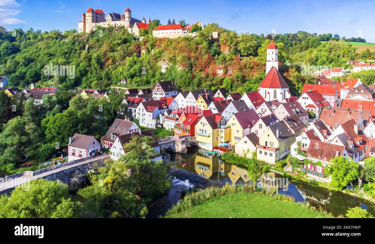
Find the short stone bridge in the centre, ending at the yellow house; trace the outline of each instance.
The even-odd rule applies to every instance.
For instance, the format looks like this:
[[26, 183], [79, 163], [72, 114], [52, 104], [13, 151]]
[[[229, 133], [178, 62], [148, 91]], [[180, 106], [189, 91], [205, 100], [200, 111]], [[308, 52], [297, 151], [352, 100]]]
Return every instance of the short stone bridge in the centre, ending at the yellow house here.
[[170, 136], [165, 139], [159, 140], [160, 150], [165, 149], [176, 153], [186, 153], [187, 147], [190, 147], [192, 144], [196, 144], [195, 137], [190, 136]]

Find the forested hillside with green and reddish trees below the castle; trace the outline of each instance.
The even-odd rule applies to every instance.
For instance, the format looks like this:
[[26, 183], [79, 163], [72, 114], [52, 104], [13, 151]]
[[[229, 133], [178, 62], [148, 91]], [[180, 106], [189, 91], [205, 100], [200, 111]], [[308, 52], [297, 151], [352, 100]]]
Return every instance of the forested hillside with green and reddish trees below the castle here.
[[[75, 30], [50, 32], [0, 28], [0, 75], [9, 77], [9, 86], [26, 86], [40, 80], [62, 88], [107, 88], [126, 78], [132, 85], [144, 86], [159, 80], [174, 80], [180, 89], [224, 86], [229, 91], [257, 89], [265, 75], [266, 46], [271, 35], [237, 34], [208, 24], [198, 37], [156, 39], [152, 28], [141, 30], [142, 40], [123, 27], [99, 28], [92, 33], [77, 34]], [[219, 38], [212, 38], [212, 31]], [[345, 66], [348, 59], [361, 58], [356, 48], [343, 40], [320, 43], [315, 34], [299, 31], [274, 37], [279, 46], [279, 61], [311, 65]], [[347, 43], [346, 43], [347, 44]], [[367, 53], [371, 58], [375, 52]], [[375, 58], [375, 57], [374, 57]], [[161, 72], [159, 62], [169, 64]], [[75, 77], [45, 76], [45, 65], [74, 65]], [[223, 72], [221, 76], [218, 72]], [[312, 77], [299, 76], [299, 70], [280, 67], [294, 83], [296, 92]]]

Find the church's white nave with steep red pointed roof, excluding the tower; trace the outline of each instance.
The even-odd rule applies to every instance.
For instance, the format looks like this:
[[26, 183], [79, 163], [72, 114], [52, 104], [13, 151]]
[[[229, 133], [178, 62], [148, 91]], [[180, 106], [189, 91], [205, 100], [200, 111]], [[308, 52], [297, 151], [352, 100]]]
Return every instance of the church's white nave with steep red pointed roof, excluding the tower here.
[[260, 83], [258, 92], [266, 101], [283, 101], [285, 98], [290, 98], [290, 91], [287, 82], [281, 76], [275, 66], [272, 66], [270, 71]]

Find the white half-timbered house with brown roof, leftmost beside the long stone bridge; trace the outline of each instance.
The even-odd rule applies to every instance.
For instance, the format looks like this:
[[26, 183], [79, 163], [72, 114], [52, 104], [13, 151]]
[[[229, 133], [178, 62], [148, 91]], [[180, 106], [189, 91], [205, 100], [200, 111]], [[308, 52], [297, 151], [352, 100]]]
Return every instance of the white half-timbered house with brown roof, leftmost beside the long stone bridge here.
[[100, 143], [95, 137], [74, 134], [69, 138], [68, 162], [100, 154]]

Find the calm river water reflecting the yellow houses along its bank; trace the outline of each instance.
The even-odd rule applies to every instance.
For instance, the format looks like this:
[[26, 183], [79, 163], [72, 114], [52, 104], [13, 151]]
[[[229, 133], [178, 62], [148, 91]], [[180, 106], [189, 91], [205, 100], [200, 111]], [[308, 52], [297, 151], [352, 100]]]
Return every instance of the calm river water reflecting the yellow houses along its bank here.
[[[177, 161], [177, 167], [207, 179], [230, 184], [249, 183], [250, 178], [246, 168], [226, 163], [217, 156], [208, 156], [204, 152], [205, 150], [191, 147], [187, 154], [171, 153], [171, 159]], [[267, 195], [292, 196], [296, 202], [309, 202], [335, 216], [345, 215], [349, 207], [361, 207], [375, 215], [375, 206], [365, 199], [340, 191], [311, 186], [303, 181], [283, 178], [282, 175], [273, 172], [264, 173], [257, 186]]]

